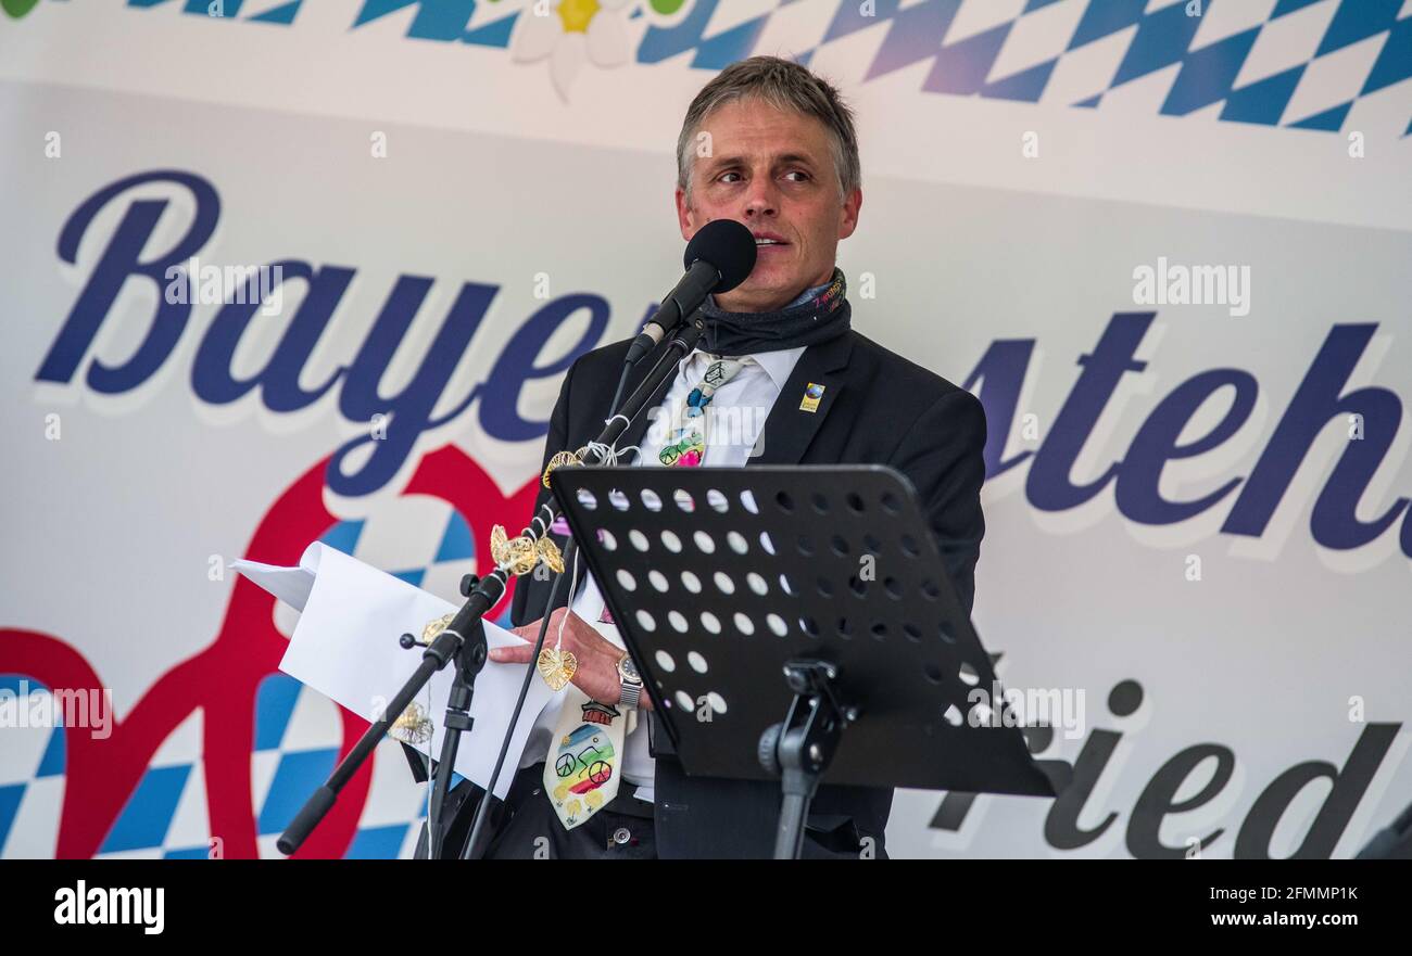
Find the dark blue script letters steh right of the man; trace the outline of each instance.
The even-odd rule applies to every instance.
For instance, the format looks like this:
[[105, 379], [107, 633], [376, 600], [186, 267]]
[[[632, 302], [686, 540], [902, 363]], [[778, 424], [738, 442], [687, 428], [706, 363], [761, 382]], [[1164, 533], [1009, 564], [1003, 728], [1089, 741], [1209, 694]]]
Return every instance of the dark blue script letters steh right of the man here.
[[[1368, 386], [1343, 392], [1372, 338], [1377, 329], [1372, 324], [1334, 326], [1329, 331], [1248, 481], [1241, 477], [1230, 478], [1195, 501], [1169, 501], [1159, 492], [1166, 462], [1192, 458], [1219, 447], [1240, 430], [1255, 407], [1260, 393], [1255, 378], [1238, 368], [1219, 368], [1176, 386], [1148, 415], [1120, 461], [1114, 461], [1100, 478], [1075, 485], [1070, 478], [1073, 464], [1113, 398], [1118, 381], [1128, 372], [1147, 368], [1147, 362], [1137, 361], [1134, 355], [1154, 316], [1149, 312], [1114, 313], [1093, 353], [1079, 357], [1083, 371], [1025, 477], [1025, 496], [1031, 505], [1041, 510], [1067, 510], [1090, 501], [1108, 482], [1115, 482], [1114, 502], [1124, 517], [1142, 525], [1172, 525], [1216, 506], [1244, 482], [1221, 532], [1260, 537], [1319, 433], [1330, 422], [1344, 422], [1358, 415], [1363, 434], [1357, 440], [1350, 436], [1315, 501], [1309, 519], [1310, 534], [1315, 541], [1332, 550], [1357, 549], [1380, 537], [1399, 516], [1406, 515], [1399, 547], [1412, 557], [1412, 512], [1408, 510], [1406, 498], [1395, 499], [1374, 520], [1364, 522], [1356, 515], [1402, 422], [1402, 402], [1389, 389]], [[1007, 461], [1000, 458], [1014, 429], [1019, 391], [1032, 351], [1032, 340], [997, 341], [966, 379], [966, 388], [980, 385], [977, 396], [986, 406], [990, 426], [986, 443], [987, 478], [1008, 471], [1031, 454], [1025, 451]], [[1231, 391], [1231, 405], [1221, 420], [1204, 436], [1178, 444], [1197, 409], [1221, 389]]]

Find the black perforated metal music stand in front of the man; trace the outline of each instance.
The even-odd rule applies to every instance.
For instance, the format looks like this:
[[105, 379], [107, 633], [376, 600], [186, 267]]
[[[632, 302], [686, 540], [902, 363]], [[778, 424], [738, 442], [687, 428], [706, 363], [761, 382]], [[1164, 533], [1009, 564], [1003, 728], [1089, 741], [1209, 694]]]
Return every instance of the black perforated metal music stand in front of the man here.
[[565, 467], [551, 485], [683, 770], [782, 778], [777, 857], [798, 856], [820, 780], [1053, 797], [897, 471]]

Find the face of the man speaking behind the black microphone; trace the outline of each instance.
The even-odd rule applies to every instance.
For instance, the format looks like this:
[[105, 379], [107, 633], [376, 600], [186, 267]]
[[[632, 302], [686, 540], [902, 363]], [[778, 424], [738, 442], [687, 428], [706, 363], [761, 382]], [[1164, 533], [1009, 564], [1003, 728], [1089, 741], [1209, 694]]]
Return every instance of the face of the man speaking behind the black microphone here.
[[754, 233], [758, 252], [750, 278], [716, 303], [771, 312], [827, 282], [839, 240], [858, 224], [863, 192], [839, 196], [823, 123], [746, 99], [709, 113], [700, 133], [710, 134], [710, 155], [695, 157], [690, 203], [676, 190], [682, 238], [713, 219], [734, 219]]

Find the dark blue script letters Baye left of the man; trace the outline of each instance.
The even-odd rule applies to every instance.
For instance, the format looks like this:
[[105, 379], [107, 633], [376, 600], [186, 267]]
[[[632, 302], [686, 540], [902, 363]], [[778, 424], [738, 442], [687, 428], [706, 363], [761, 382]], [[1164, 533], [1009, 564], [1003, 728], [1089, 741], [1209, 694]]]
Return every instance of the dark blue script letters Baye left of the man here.
[[[172, 354], [191, 317], [195, 296], [162, 295], [169, 268], [184, 265], [196, 255], [215, 231], [220, 217], [220, 197], [201, 176], [178, 171], [155, 171], [119, 180], [83, 202], [64, 224], [59, 255], [75, 262], [78, 248], [99, 212], [123, 193], [138, 186], [167, 185], [189, 193], [195, 217], [185, 235], [164, 254], [143, 261], [141, 250], [168, 207], [165, 199], [130, 200], [128, 206], [103, 248], [93, 274], [79, 293], [59, 334], [49, 347], [35, 378], [41, 382], [69, 384], [107, 320], [113, 305], [130, 278], [151, 281], [158, 290], [158, 305], [147, 336], [137, 351], [121, 365], [110, 367], [93, 357], [88, 367], [86, 384], [96, 392], [120, 393], [136, 389]], [[274, 272], [274, 266], [280, 271]], [[363, 434], [337, 448], [326, 477], [332, 491], [340, 495], [367, 495], [385, 485], [415, 448], [418, 437], [443, 426], [480, 399], [480, 424], [487, 434], [503, 441], [528, 441], [548, 433], [548, 420], [531, 420], [520, 415], [520, 393], [528, 382], [562, 374], [579, 355], [593, 348], [609, 326], [609, 303], [596, 295], [573, 293], [545, 303], [511, 336], [510, 343], [491, 365], [486, 381], [469, 389], [446, 413], [435, 416], [452, 374], [470, 348], [490, 303], [500, 288], [466, 282], [456, 295], [439, 330], [428, 343], [411, 381], [395, 395], [383, 391], [398, 347], [407, 338], [412, 320], [431, 292], [431, 276], [401, 275], [388, 293], [371, 331], [353, 360], [336, 368], [313, 388], [299, 382], [301, 372], [333, 321], [333, 314], [350, 288], [356, 269], [339, 265], [313, 266], [299, 259], [282, 259], [268, 266], [281, 282], [299, 279], [306, 283], [306, 295], [289, 319], [278, 344], [264, 368], [237, 378], [233, 361], [241, 338], [250, 327], [256, 310], [264, 305], [260, 295], [241, 296], [243, 302], [226, 302], [213, 316], [202, 336], [192, 362], [191, 386], [196, 398], [210, 405], [236, 402], [254, 389], [271, 412], [295, 412], [319, 400], [336, 385], [339, 412], [349, 422], [371, 422], [385, 417], [385, 430], [376, 439]], [[257, 286], [256, 286], [257, 288]], [[247, 289], [253, 290], [253, 289]], [[265, 295], [274, 289], [264, 290]], [[580, 314], [587, 314], [587, 329], [563, 355], [545, 361], [545, 343], [555, 331]], [[359, 467], [350, 467], [350, 455], [370, 444], [370, 453]]]

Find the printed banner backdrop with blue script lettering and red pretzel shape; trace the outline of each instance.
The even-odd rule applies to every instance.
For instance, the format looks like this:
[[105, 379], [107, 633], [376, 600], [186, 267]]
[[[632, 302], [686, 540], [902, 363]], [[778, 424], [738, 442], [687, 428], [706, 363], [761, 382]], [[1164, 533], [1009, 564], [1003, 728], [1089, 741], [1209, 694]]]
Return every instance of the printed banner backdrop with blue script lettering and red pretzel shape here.
[[[858, 111], [856, 327], [984, 402], [976, 623], [1062, 701], [1058, 799], [898, 792], [888, 852], [1341, 857], [1412, 802], [1412, 1], [535, 6], [0, 4], [0, 854], [278, 856], [364, 725], [229, 563], [453, 598], [762, 52]], [[384, 743], [302, 853], [424, 811]]]

